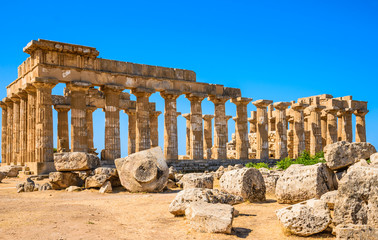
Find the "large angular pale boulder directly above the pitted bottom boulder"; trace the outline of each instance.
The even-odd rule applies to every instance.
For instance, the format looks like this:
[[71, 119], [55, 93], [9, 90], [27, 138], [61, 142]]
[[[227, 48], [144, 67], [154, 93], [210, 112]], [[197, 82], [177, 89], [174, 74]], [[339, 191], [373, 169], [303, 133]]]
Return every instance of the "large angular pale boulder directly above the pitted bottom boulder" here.
[[278, 179], [276, 197], [279, 203], [298, 203], [319, 199], [324, 193], [337, 189], [335, 174], [324, 163], [304, 166], [293, 164]]

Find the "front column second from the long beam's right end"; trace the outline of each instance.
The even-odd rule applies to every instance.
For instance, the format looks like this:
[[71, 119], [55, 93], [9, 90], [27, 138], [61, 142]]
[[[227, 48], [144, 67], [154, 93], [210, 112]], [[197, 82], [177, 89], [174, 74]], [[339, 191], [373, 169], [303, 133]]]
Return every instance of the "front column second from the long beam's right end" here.
[[[229, 98], [219, 97], [219, 96], [210, 96], [208, 99], [214, 103], [214, 146], [212, 147], [212, 150], [211, 150], [211, 158], [227, 159], [228, 128], [227, 128], [225, 104], [229, 100]], [[211, 124], [211, 119], [210, 119], [210, 124]], [[210, 130], [210, 133], [211, 133], [211, 130]], [[206, 135], [207, 133], [205, 132], [205, 137]]]

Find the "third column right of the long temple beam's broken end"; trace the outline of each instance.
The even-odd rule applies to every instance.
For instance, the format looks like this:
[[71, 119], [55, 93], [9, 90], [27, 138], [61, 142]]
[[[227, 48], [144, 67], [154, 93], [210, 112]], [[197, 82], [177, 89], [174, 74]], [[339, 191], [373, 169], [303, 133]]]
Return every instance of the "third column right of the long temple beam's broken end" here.
[[297, 158], [306, 149], [303, 117], [304, 106], [296, 103], [291, 106], [291, 109], [293, 109], [294, 115], [293, 158]]

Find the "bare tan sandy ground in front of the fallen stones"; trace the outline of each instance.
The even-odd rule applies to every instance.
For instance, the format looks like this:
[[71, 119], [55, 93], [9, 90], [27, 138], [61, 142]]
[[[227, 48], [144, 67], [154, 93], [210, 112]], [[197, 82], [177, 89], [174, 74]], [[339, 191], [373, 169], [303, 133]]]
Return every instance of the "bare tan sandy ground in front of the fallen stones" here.
[[[308, 238], [285, 236], [275, 210], [287, 205], [273, 198], [266, 203], [243, 203], [232, 235], [197, 233], [184, 217], [168, 212], [178, 190], [131, 194], [118, 190], [99, 194], [45, 191], [16, 193], [16, 183], [0, 183], [0, 239], [333, 239], [331, 234]], [[44, 181], [36, 181], [42, 183]]]

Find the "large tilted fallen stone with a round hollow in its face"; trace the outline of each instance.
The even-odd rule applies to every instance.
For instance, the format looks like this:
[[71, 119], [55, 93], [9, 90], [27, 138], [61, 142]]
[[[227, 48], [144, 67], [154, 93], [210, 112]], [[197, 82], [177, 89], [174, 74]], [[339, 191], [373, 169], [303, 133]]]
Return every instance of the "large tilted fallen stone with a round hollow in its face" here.
[[130, 192], [161, 192], [168, 181], [168, 166], [160, 147], [131, 154], [115, 161], [119, 179]]

